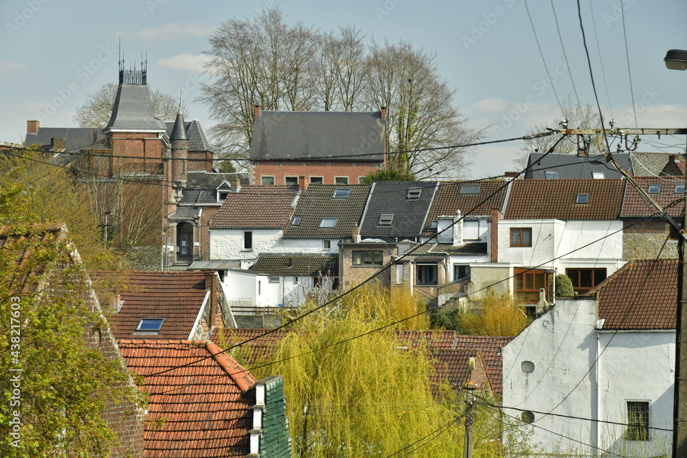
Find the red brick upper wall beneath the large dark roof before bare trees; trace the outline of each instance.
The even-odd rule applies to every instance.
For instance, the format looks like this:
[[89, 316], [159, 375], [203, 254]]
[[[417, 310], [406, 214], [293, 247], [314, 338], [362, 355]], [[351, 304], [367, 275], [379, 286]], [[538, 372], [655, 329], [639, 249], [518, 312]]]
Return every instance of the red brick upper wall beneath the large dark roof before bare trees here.
[[286, 176], [322, 176], [324, 179], [323, 184], [333, 185], [336, 184], [336, 176], [348, 176], [348, 184], [354, 185], [358, 183], [359, 176], [376, 172], [378, 170], [375, 166], [376, 163], [378, 162], [256, 161], [256, 163], [251, 164], [251, 184], [262, 184], [262, 176], [274, 176], [275, 185], [284, 185], [284, 177]]

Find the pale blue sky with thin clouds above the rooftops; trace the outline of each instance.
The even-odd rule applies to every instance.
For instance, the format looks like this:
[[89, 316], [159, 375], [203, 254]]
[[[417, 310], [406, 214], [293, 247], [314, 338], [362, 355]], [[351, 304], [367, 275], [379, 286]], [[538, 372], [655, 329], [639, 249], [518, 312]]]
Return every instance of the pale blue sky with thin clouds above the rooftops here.
[[[685, 127], [687, 71], [666, 69], [663, 58], [687, 49], [687, 1], [579, 1], [606, 123]], [[288, 23], [326, 32], [355, 25], [370, 40], [408, 41], [434, 54], [453, 103], [485, 141], [522, 137], [535, 124], [556, 128], [559, 100], [597, 106], [574, 0], [2, 0], [0, 142], [21, 143], [29, 119], [76, 126], [87, 95], [117, 82], [120, 38], [126, 62], [147, 54], [151, 89], [181, 91], [207, 133], [217, 121], [195, 100], [207, 81], [207, 38], [224, 21], [263, 8], [280, 8]], [[645, 136], [640, 150], [681, 153], [685, 141]], [[465, 176], [516, 170], [522, 147], [474, 148]]]

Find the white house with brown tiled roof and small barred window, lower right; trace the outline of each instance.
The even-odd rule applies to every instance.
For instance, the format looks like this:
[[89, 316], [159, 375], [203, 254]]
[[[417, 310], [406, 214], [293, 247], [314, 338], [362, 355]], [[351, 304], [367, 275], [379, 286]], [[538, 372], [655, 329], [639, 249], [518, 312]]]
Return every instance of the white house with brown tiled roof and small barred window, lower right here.
[[504, 413], [545, 456], [669, 456], [677, 261], [627, 264], [592, 293], [502, 347]]

